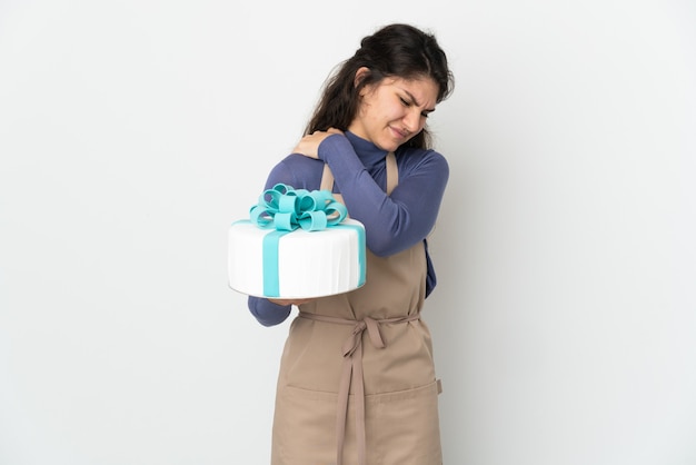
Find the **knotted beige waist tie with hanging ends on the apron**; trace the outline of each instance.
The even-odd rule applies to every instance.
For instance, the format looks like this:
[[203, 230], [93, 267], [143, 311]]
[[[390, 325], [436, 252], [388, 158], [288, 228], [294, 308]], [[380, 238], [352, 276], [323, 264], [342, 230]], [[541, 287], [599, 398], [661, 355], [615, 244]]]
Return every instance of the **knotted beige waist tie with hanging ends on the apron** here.
[[348, 417], [348, 394], [352, 376], [357, 378], [356, 383], [356, 441], [358, 443], [358, 464], [366, 465], [366, 432], [365, 432], [365, 384], [362, 378], [362, 333], [367, 329], [367, 334], [377, 348], [386, 347], [379, 325], [384, 323], [407, 323], [415, 321], [420, 318], [420, 314], [414, 314], [405, 317], [374, 319], [365, 317], [364, 319], [338, 318], [328, 315], [316, 315], [300, 311], [299, 317], [312, 319], [317, 321], [335, 323], [339, 325], [352, 325], [352, 334], [342, 347], [344, 369], [341, 373], [340, 384], [338, 387], [338, 413], [336, 416], [336, 444], [337, 458], [336, 465], [342, 465], [344, 462], [344, 442], [346, 437], [346, 419]]

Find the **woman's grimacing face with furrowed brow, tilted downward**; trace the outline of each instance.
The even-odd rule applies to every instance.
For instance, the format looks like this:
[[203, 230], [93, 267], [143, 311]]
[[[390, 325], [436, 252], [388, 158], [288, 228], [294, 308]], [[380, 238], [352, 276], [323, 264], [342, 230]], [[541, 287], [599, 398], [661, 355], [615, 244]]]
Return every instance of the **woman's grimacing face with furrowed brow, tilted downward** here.
[[358, 116], [348, 130], [394, 151], [422, 130], [435, 111], [438, 87], [430, 78], [386, 78], [360, 92]]

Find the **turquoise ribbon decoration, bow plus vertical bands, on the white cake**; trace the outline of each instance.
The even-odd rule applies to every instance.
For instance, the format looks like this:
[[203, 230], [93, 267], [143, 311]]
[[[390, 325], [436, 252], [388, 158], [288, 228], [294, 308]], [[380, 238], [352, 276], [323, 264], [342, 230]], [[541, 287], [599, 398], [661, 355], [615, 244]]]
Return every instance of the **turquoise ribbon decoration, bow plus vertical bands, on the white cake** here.
[[[278, 246], [282, 236], [298, 228], [319, 231], [339, 226], [347, 216], [346, 206], [336, 200], [330, 190], [309, 191], [285, 184], [265, 190], [258, 204], [249, 210], [252, 224], [262, 229], [276, 229], [264, 237], [264, 295], [280, 297]], [[358, 236], [359, 241], [365, 244], [365, 233], [358, 230]], [[362, 255], [360, 263], [365, 264]], [[361, 269], [365, 269], [364, 265]], [[365, 275], [361, 271], [360, 285], [364, 283]]]

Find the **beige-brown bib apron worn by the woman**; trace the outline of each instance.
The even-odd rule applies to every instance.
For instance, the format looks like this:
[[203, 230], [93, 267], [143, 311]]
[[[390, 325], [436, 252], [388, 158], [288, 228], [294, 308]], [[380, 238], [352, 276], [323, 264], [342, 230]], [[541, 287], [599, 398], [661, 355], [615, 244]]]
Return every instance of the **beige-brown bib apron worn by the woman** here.
[[[398, 181], [387, 156], [387, 192]], [[334, 178], [325, 167], [322, 189]], [[339, 196], [336, 196], [340, 198]], [[300, 306], [280, 362], [271, 465], [441, 464], [422, 243], [367, 251], [361, 288]]]

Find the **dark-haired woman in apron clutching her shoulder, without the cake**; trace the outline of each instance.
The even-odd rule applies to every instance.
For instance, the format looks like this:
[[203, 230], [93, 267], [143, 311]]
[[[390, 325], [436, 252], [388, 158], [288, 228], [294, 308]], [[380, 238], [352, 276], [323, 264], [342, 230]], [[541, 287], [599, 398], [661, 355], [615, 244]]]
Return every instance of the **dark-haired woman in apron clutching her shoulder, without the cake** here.
[[[454, 87], [434, 36], [390, 24], [328, 81], [305, 136], [270, 172], [329, 188], [366, 228], [367, 283], [311, 300], [249, 298], [266, 326], [292, 321], [276, 396], [274, 465], [441, 463], [426, 237], [448, 179], [426, 120]], [[328, 169], [325, 169], [325, 166]]]

